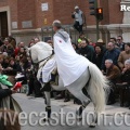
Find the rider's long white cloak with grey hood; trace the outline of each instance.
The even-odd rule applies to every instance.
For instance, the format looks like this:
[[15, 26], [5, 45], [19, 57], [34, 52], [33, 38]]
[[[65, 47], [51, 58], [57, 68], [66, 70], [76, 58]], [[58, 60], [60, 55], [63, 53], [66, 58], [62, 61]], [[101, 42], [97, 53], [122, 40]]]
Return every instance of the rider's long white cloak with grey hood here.
[[57, 72], [64, 82], [64, 87], [67, 87], [84, 73], [89, 65], [89, 60], [76, 53], [66, 31], [60, 29], [54, 35], [53, 40]]

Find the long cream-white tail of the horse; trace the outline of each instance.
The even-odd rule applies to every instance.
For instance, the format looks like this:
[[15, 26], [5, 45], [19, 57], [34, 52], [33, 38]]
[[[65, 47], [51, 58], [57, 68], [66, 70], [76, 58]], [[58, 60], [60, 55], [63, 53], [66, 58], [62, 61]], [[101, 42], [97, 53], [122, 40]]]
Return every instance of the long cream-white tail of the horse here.
[[109, 90], [108, 80], [102, 72], [92, 63], [89, 65], [91, 75], [88, 92], [95, 106], [95, 112], [101, 113], [105, 109], [106, 93]]

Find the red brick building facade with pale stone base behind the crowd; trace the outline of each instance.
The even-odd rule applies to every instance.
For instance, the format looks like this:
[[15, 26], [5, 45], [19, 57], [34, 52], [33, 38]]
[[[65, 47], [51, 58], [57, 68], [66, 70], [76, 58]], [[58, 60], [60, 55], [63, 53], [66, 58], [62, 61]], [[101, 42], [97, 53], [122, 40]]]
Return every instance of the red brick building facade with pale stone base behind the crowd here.
[[[87, 18], [88, 37], [96, 41], [95, 17], [90, 15], [88, 1], [0, 0], [0, 36], [12, 35], [17, 42], [28, 42], [32, 37], [50, 35], [50, 28], [42, 31], [41, 28], [51, 26], [54, 20], [72, 26], [74, 23], [72, 12], [75, 5], [79, 5]], [[129, 41], [130, 14], [121, 12], [120, 4], [130, 5], [130, 0], [98, 0], [98, 2], [104, 10], [104, 20], [100, 23], [100, 38], [107, 42], [109, 37], [122, 35], [125, 40]]]

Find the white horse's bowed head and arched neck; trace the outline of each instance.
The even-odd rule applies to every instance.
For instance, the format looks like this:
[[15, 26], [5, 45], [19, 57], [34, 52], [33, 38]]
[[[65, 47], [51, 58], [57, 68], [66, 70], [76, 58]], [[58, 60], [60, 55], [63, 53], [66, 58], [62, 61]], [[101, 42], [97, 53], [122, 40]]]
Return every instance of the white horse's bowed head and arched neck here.
[[52, 54], [52, 47], [46, 42], [38, 42], [29, 49], [30, 56], [34, 63], [38, 63]]

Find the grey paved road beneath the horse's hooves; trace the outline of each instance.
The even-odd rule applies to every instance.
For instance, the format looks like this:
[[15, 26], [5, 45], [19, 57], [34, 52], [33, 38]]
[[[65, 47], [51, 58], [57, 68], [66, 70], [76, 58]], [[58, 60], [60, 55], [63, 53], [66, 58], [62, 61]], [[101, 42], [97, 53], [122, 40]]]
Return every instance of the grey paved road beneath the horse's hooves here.
[[[32, 98], [27, 98], [24, 94], [15, 94], [14, 98], [17, 100], [17, 102], [21, 104], [22, 108], [24, 112], [26, 112], [27, 114], [30, 114], [31, 112], [36, 112], [37, 114], [41, 114], [41, 112], [44, 112], [44, 103], [43, 103], [43, 99], [32, 99]], [[117, 104], [118, 105], [118, 104]], [[56, 126], [40, 126], [40, 125], [36, 125], [34, 127], [31, 127], [29, 125], [29, 122], [25, 126], [22, 127], [22, 130], [91, 130], [92, 128], [89, 128], [89, 126], [87, 123], [84, 123], [83, 126], [81, 123], [74, 123], [73, 126], [68, 126], [69, 123], [72, 125], [72, 122], [74, 120], [69, 120], [69, 123], [65, 122], [65, 117], [67, 116], [68, 113], [74, 113], [76, 112], [76, 108], [78, 108], [78, 105], [74, 105], [73, 102], [68, 102], [68, 103], [63, 103], [62, 100], [60, 101], [55, 101], [52, 99], [52, 109], [53, 112], [60, 113], [61, 108], [64, 110], [65, 115], [63, 116], [63, 118], [60, 118], [60, 116], [57, 116], [60, 123], [57, 123]], [[90, 104], [88, 106], [88, 108], [86, 109], [86, 114], [88, 112], [93, 112], [93, 106], [92, 104]], [[120, 127], [116, 127], [114, 125], [114, 114], [116, 112], [120, 112], [121, 114], [129, 114], [129, 109], [128, 108], [120, 108], [119, 106], [107, 106], [106, 107], [106, 112], [104, 114], [106, 114], [106, 126], [103, 125], [103, 118], [101, 118], [101, 125], [98, 126], [96, 128], [94, 128], [94, 130], [130, 130], [130, 127], [127, 127], [126, 125], [121, 125]], [[55, 116], [53, 116], [55, 117]], [[89, 121], [91, 120], [91, 117], [89, 117]], [[125, 117], [125, 116], [123, 116]], [[117, 123], [119, 123], [120, 121], [123, 120], [123, 117], [121, 117], [120, 115], [116, 117], [116, 121]], [[36, 120], [40, 120], [41, 117], [36, 117], [36, 116], [31, 116], [30, 117], [32, 122], [35, 122]], [[62, 120], [63, 119], [63, 120]], [[127, 117], [126, 118], [127, 122], [130, 126], [130, 118]], [[44, 125], [44, 122], [41, 121], [42, 125]], [[51, 123], [54, 123], [54, 121], [51, 121]], [[63, 123], [63, 126], [61, 125]]]

